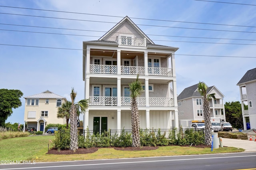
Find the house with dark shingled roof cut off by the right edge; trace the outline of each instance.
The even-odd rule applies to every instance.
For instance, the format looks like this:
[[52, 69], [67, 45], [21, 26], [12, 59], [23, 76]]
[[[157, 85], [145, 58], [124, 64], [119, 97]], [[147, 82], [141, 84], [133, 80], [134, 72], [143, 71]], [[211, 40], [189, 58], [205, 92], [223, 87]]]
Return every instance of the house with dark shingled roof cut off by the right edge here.
[[[240, 89], [244, 130], [247, 130], [246, 117], [249, 117], [250, 128], [256, 128], [256, 68], [248, 70], [237, 85]], [[248, 105], [248, 110], [244, 109], [244, 104]]]

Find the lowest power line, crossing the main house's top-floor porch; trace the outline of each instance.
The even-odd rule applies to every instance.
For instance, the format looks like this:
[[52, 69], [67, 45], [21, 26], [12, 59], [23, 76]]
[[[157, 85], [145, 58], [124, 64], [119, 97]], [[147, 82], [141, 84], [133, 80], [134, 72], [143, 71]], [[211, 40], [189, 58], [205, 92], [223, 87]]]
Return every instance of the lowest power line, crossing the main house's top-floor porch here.
[[[79, 51], [87, 51], [87, 49], [73, 49], [73, 48], [59, 48], [59, 47], [42, 47], [42, 46], [31, 46], [31, 45], [14, 45], [14, 44], [0, 44], [0, 45], [8, 45], [8, 46], [18, 46], [18, 47], [35, 47], [35, 48], [48, 48], [48, 49], [66, 49], [66, 50], [79, 50]], [[111, 50], [91, 50], [91, 51], [105, 51], [105, 52], [116, 52]], [[125, 51], [126, 53], [134, 53], [134, 51]], [[136, 52], [143, 53], [143, 52]], [[162, 53], [161, 53], [162, 54]], [[170, 53], [166, 53], [170, 54]], [[200, 56], [200, 57], [232, 57], [232, 58], [256, 58], [256, 57], [246, 57], [246, 56], [222, 56], [222, 55], [191, 55], [191, 54], [175, 54], [175, 55], [186, 55], [186, 56]]]

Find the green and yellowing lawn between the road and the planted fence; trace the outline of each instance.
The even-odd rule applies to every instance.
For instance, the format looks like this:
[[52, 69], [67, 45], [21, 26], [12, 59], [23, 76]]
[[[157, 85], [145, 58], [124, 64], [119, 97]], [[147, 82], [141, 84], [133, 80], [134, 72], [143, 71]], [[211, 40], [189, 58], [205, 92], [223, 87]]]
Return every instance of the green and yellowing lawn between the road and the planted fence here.
[[174, 156], [189, 154], [215, 154], [228, 152], [242, 152], [244, 149], [233, 147], [195, 148], [182, 146], [160, 146], [156, 150], [122, 151], [114, 148], [99, 148], [91, 154], [53, 155], [48, 152], [48, 144], [55, 136], [28, 136], [0, 140], [0, 160], [36, 160], [36, 162], [68, 161], [68, 160], [92, 160], [110, 158], [135, 158], [148, 156]]

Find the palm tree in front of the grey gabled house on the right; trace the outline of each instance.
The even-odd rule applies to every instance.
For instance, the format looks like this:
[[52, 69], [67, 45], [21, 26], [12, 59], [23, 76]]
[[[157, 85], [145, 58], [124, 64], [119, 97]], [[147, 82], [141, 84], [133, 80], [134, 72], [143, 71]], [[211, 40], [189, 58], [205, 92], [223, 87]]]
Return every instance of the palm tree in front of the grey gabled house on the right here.
[[198, 91], [200, 95], [204, 97], [204, 124], [205, 124], [205, 133], [204, 133], [204, 143], [206, 145], [211, 145], [211, 111], [210, 111], [210, 102], [209, 99], [212, 97], [215, 99], [215, 93], [207, 94], [208, 87], [204, 82], [198, 83]]

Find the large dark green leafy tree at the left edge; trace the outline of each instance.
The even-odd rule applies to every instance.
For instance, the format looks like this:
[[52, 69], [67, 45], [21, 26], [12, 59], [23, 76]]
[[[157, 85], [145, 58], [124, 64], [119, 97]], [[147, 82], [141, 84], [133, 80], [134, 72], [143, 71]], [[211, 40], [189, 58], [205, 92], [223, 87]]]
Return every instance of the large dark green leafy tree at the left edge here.
[[22, 105], [20, 97], [23, 93], [20, 90], [0, 89], [0, 127], [4, 127], [6, 119], [12, 115], [12, 109]]

